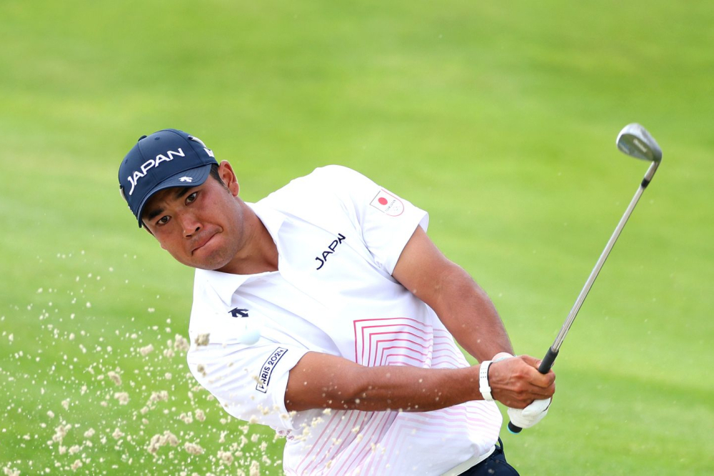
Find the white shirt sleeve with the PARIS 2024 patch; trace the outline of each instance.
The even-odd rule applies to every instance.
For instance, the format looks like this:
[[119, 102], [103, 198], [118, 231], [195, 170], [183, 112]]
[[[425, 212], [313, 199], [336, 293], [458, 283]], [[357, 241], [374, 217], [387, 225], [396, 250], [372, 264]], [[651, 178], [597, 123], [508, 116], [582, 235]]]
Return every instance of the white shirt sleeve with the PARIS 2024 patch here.
[[[188, 368], [199, 384], [216, 397], [226, 412], [251, 423], [275, 430], [294, 430], [285, 407], [288, 374], [307, 349], [261, 338], [246, 345], [220, 332], [211, 336], [192, 335]], [[201, 344], [196, 344], [201, 342]]]

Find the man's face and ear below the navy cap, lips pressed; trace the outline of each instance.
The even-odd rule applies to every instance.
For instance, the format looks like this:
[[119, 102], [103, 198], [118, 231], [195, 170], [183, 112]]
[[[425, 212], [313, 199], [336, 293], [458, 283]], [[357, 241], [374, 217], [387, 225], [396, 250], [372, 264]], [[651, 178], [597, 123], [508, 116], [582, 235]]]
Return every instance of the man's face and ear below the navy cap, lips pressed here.
[[221, 271], [231, 264], [246, 240], [244, 208], [238, 182], [230, 164], [218, 167], [213, 177], [198, 187], [175, 187], [156, 192], [141, 219], [178, 262]]

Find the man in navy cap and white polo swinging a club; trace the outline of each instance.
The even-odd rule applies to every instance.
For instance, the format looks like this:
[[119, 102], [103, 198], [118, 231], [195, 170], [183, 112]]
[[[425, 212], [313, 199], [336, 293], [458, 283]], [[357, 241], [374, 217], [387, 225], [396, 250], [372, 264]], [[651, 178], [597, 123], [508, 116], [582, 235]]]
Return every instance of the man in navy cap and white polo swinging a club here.
[[518, 474], [493, 400], [532, 426], [555, 375], [513, 357], [426, 212], [338, 166], [248, 204], [231, 165], [176, 129], [141, 137], [119, 183], [139, 227], [196, 268], [191, 372], [286, 437], [286, 474]]

